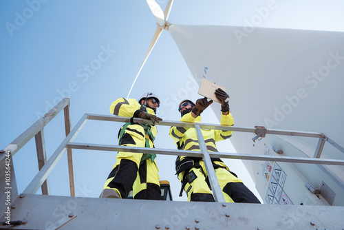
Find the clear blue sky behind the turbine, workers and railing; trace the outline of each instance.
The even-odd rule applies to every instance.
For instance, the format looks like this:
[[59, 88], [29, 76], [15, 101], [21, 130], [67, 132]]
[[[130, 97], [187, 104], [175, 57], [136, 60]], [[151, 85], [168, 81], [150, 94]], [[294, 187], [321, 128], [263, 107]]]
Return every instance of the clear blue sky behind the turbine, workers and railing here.
[[[157, 2], [164, 10], [167, 0]], [[268, 12], [262, 11], [268, 7]], [[343, 31], [343, 9], [343, 1], [335, 0], [185, 0], [175, 1], [169, 21], [241, 26], [264, 14], [257, 26]], [[127, 96], [156, 28], [143, 0], [0, 1], [0, 11], [1, 148], [63, 97], [71, 99], [72, 125], [85, 113], [108, 115], [111, 102]], [[180, 118], [179, 101], [199, 97], [195, 81], [166, 31], [149, 56], [131, 98], [149, 90], [160, 96], [158, 116], [173, 121]], [[218, 123], [211, 110], [204, 113], [204, 118], [206, 123]], [[89, 121], [75, 141], [115, 145], [119, 127], [120, 124]], [[49, 157], [64, 138], [63, 114], [44, 131]], [[155, 146], [175, 148], [168, 128], [159, 129]], [[229, 142], [222, 143], [219, 149], [232, 151]], [[76, 194], [97, 197], [115, 156], [114, 152], [74, 150]], [[171, 182], [176, 200], [180, 183], [174, 176], [174, 161], [174, 156], [158, 157], [160, 179]], [[66, 167], [64, 156], [50, 176], [53, 195], [69, 194]], [[38, 171], [34, 140], [14, 156], [14, 169], [20, 193]], [[80, 187], [87, 189], [86, 194], [80, 192]], [[185, 199], [184, 194], [182, 200]]]

